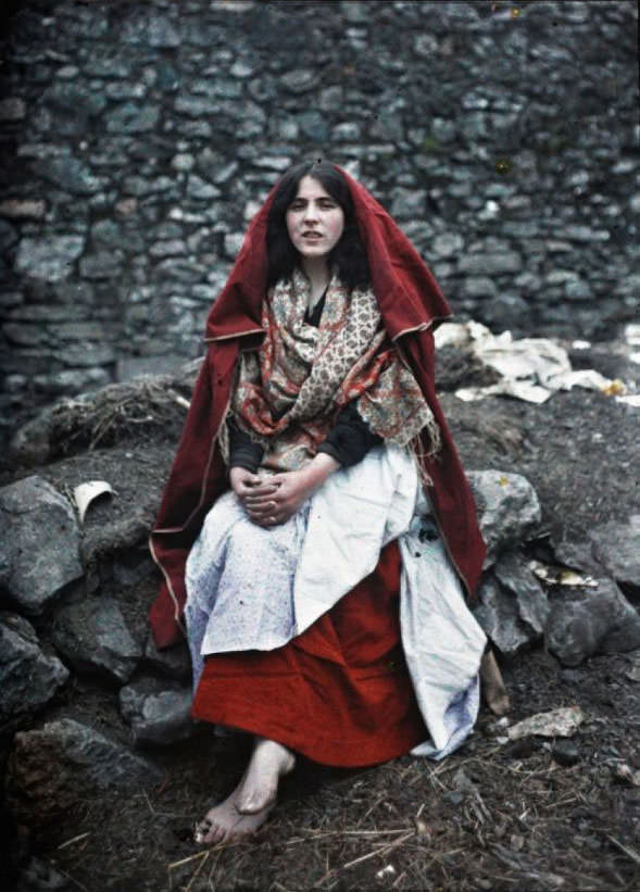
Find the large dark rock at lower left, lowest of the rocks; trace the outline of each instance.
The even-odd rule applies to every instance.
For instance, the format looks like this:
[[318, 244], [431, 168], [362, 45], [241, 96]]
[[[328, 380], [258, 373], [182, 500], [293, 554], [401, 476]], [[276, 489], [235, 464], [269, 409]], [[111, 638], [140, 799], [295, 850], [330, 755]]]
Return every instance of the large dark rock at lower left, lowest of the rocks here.
[[143, 790], [162, 771], [92, 728], [63, 718], [15, 736], [9, 759], [7, 799], [27, 827], [40, 827], [105, 791]]

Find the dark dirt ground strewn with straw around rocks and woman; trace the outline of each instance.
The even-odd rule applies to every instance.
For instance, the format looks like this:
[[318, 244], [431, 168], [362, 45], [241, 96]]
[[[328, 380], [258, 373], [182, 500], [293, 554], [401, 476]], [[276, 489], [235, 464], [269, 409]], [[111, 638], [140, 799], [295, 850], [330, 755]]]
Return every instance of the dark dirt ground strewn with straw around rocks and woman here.
[[[577, 359], [612, 377], [633, 372], [611, 347]], [[465, 374], [442, 367], [441, 386], [468, 384]], [[563, 537], [580, 541], [640, 513], [638, 410], [578, 389], [541, 406], [462, 403], [451, 392], [442, 403], [468, 469], [514, 470], [537, 489], [543, 520], [525, 543], [529, 554], [550, 560]], [[100, 524], [110, 511], [152, 513], [174, 449], [173, 432], [150, 439], [140, 428], [38, 473], [61, 488], [117, 479], [117, 500], [96, 507]], [[137, 635], [154, 586], [149, 575], [135, 595], [120, 593], [135, 596]], [[188, 742], [149, 751], [165, 769], [160, 786], [80, 803], [30, 834], [18, 829], [15, 850], [23, 864], [35, 855], [66, 878], [65, 889], [85, 892], [640, 889], [640, 788], [618, 777], [623, 763], [640, 768], [640, 652], [567, 669], [539, 645], [502, 665], [511, 721], [578, 705], [586, 718], [576, 734], [501, 743], [484, 707], [474, 734], [442, 763], [405, 756], [335, 770], [301, 762], [252, 841], [202, 847], [192, 824], [235, 786], [247, 755], [242, 740], [202, 727]], [[117, 692], [91, 679], [76, 681], [46, 718], [61, 716], [123, 737]]]

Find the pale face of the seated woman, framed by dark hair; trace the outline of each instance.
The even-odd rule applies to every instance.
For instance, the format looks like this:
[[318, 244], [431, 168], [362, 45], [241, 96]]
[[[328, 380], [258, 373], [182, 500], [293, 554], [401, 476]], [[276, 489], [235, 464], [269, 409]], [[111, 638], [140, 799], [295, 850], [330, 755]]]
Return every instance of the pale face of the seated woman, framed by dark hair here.
[[309, 260], [326, 256], [344, 230], [344, 213], [336, 199], [311, 176], [304, 176], [287, 210], [287, 231], [293, 248]]

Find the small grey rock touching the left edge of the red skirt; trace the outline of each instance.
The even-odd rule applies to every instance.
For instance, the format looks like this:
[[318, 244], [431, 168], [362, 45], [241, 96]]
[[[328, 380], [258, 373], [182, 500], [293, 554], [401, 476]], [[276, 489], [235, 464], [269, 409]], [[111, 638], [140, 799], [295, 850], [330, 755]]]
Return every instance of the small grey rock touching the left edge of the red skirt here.
[[190, 737], [191, 689], [177, 681], [142, 677], [120, 691], [120, 708], [137, 744], [167, 745]]

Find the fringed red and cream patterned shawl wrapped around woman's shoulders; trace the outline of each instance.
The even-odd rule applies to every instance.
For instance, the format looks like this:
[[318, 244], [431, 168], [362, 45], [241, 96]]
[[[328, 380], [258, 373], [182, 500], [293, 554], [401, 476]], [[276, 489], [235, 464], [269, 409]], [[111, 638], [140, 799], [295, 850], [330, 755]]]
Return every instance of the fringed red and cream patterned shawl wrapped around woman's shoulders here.
[[440, 435], [434, 414], [382, 328], [373, 291], [350, 292], [334, 274], [315, 327], [305, 322], [310, 288], [296, 269], [268, 291], [262, 311], [265, 339], [259, 351], [243, 352], [239, 363], [230, 411], [264, 447], [263, 467], [301, 467], [352, 400], [388, 442], [414, 445], [426, 428], [428, 454], [435, 454]]

